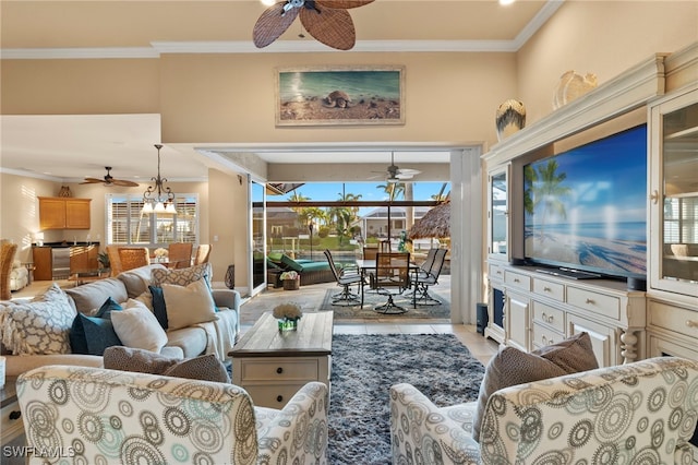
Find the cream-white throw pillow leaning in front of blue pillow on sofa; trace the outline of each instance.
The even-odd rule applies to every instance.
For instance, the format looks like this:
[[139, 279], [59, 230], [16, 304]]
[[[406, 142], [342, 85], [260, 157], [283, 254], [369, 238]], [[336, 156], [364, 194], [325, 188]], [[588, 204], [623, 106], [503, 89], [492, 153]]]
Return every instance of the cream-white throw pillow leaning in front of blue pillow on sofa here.
[[159, 353], [167, 344], [165, 330], [140, 300], [129, 299], [123, 310], [112, 312], [111, 324], [127, 347]]

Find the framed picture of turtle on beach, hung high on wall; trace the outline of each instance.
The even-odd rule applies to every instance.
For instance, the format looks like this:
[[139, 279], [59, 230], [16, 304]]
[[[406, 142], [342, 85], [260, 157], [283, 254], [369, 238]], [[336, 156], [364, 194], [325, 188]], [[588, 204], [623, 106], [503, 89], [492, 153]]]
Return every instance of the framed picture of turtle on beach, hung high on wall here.
[[405, 124], [405, 67], [278, 69], [276, 126]]

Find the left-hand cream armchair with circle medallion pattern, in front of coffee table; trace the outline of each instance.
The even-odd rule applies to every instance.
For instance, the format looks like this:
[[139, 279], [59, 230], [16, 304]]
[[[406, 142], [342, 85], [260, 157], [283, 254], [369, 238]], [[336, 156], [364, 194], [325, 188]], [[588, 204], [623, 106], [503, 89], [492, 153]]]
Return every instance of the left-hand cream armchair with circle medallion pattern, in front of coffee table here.
[[27, 445], [70, 463], [327, 463], [323, 383], [275, 410], [232, 384], [47, 366], [20, 375], [17, 395]]

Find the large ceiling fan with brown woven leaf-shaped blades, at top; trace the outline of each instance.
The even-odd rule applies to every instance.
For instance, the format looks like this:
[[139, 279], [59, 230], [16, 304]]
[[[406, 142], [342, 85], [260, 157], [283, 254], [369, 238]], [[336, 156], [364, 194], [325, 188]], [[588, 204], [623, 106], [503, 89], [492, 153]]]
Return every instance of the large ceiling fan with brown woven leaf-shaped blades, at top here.
[[357, 32], [347, 11], [374, 0], [285, 0], [267, 8], [260, 16], [252, 38], [257, 48], [266, 47], [301, 16], [305, 31], [318, 41], [339, 50], [349, 50], [357, 41]]

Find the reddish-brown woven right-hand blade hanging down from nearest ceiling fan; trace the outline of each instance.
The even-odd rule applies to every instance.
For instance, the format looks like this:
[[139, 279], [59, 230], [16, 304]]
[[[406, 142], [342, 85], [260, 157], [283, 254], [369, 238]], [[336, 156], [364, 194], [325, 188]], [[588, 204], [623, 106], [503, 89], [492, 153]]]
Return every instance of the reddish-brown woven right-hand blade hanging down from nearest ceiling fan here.
[[300, 12], [301, 23], [315, 39], [338, 50], [349, 50], [357, 43], [357, 31], [347, 10], [322, 8], [303, 8]]

